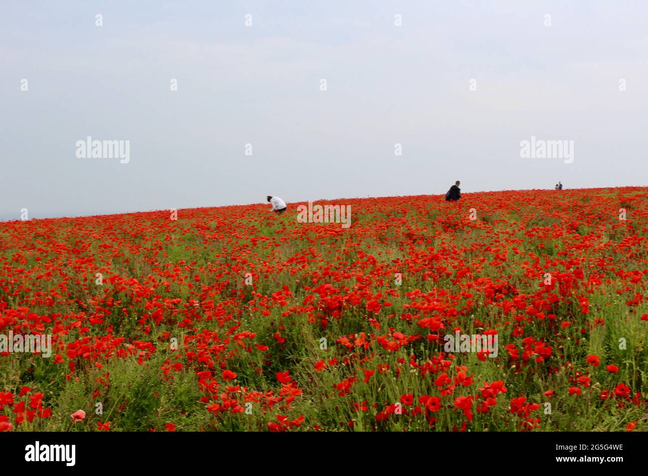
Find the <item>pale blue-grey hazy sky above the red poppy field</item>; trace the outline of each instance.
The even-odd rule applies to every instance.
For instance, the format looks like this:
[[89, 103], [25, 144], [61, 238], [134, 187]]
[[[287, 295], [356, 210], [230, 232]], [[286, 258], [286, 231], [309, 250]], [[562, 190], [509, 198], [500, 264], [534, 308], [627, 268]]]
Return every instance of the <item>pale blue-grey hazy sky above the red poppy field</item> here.
[[0, 0], [0, 219], [648, 185], [647, 159], [643, 0]]

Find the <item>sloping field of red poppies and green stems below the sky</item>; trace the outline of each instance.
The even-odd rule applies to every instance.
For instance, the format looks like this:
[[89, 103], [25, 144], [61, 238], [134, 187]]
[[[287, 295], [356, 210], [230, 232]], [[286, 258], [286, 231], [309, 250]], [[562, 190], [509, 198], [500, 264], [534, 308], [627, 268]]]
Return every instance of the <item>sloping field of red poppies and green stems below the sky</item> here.
[[648, 188], [336, 203], [0, 223], [0, 431], [648, 429]]

